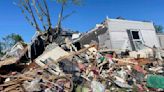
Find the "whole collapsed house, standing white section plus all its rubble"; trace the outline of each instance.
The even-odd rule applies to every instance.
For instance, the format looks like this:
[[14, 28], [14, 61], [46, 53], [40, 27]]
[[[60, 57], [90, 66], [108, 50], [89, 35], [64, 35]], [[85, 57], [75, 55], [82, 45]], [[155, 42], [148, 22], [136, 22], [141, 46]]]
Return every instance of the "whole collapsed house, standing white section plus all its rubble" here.
[[160, 47], [152, 23], [107, 18], [81, 36], [55, 31], [36, 33], [30, 44], [13, 46], [0, 61], [0, 91], [164, 91], [162, 59], [115, 53]]

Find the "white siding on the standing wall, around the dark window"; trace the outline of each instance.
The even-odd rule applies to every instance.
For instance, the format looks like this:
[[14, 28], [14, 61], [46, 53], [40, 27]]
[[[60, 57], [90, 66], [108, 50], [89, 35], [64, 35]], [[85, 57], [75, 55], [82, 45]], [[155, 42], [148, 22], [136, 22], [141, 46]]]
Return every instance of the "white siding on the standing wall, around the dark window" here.
[[108, 30], [110, 32], [112, 48], [123, 49], [123, 45], [128, 41], [128, 48], [130, 47], [129, 37], [127, 30], [139, 30], [144, 44], [153, 47], [153, 45], [159, 47], [159, 42], [155, 33], [153, 23], [151, 22], [140, 22], [140, 21], [128, 21], [119, 19], [108, 19]]

